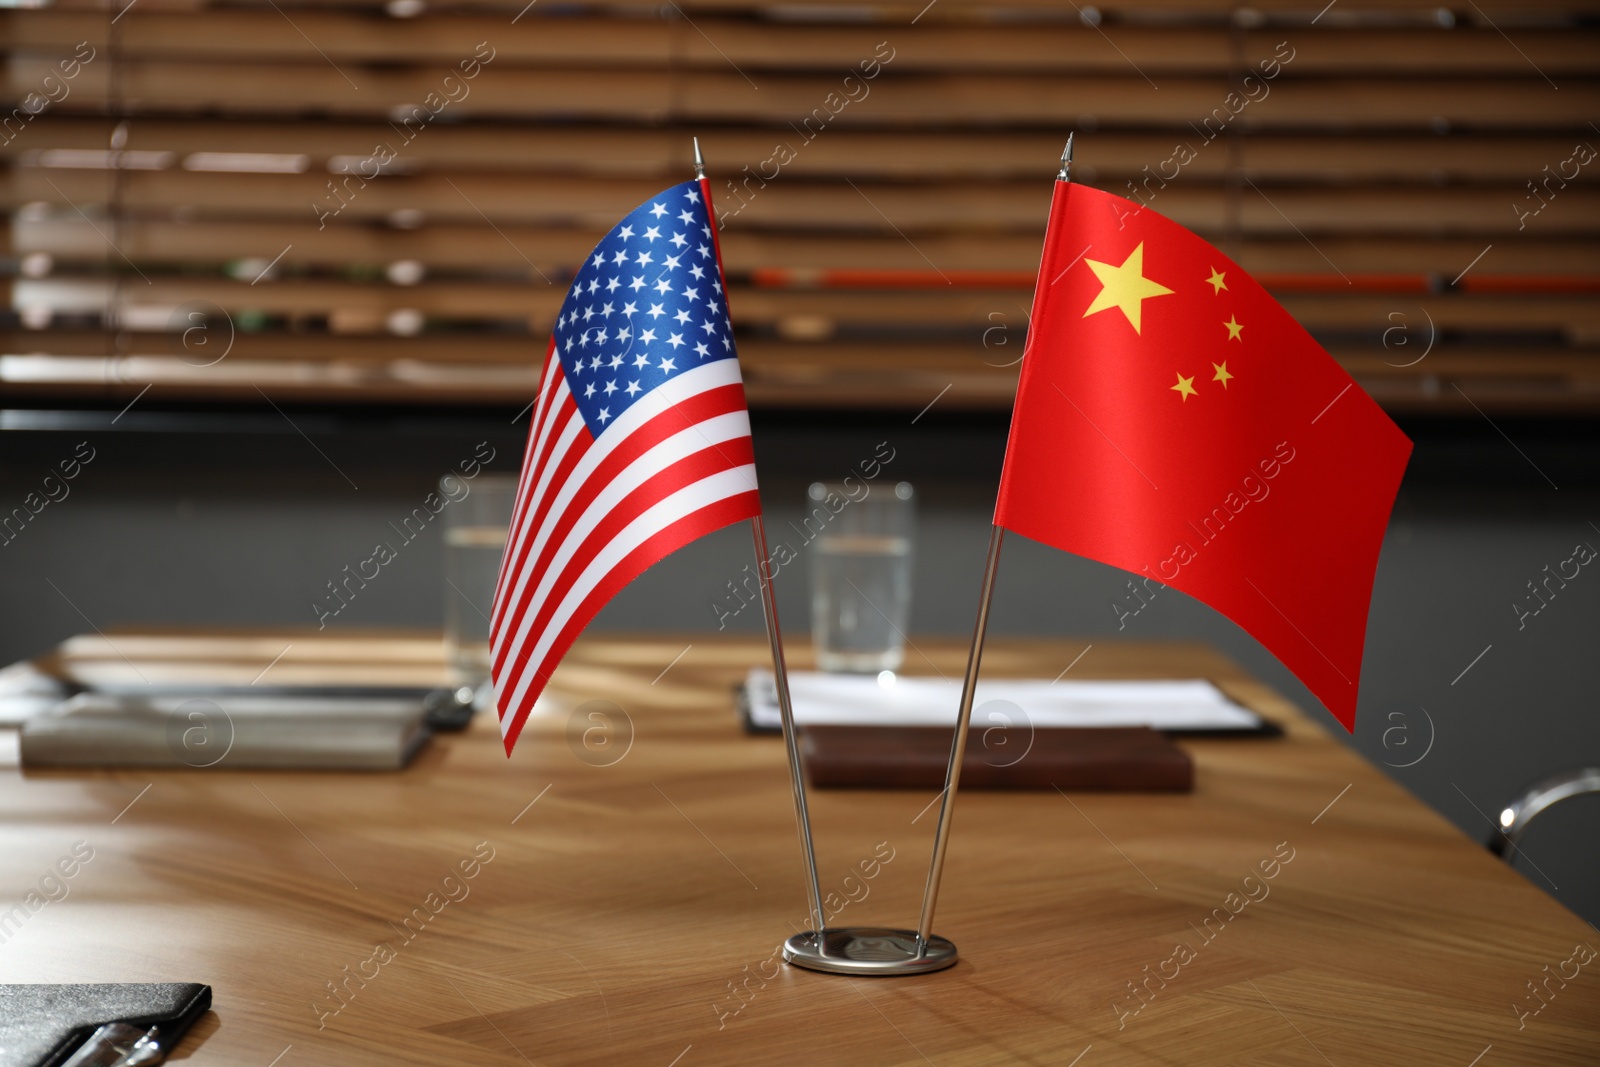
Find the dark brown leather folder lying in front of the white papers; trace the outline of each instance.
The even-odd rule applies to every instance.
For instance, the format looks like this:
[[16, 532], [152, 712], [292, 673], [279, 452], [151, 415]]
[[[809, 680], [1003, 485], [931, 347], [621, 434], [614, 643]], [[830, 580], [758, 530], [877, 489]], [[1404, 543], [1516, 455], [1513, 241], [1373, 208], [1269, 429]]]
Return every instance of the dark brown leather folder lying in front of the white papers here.
[[[942, 726], [806, 726], [806, 779], [816, 789], [944, 789]], [[1189, 753], [1149, 726], [973, 728], [962, 789], [1189, 792]]]

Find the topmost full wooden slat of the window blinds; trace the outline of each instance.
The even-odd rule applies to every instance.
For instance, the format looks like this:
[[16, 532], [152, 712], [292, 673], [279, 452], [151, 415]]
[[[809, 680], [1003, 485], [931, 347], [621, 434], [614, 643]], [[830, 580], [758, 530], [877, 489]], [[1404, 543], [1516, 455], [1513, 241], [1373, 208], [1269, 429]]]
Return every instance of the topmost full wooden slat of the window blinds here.
[[[14, 48], [32, 54], [70, 54], [78, 42], [107, 48], [102, 16], [42, 11], [11, 16]], [[546, 18], [538, 8], [518, 24], [499, 14], [424, 14], [416, 19], [371, 19], [360, 14], [301, 11], [293, 19], [270, 8], [163, 14], [131, 10], [118, 19], [117, 48], [123, 61], [230, 59], [299, 62], [314, 43], [334, 61], [456, 64], [493, 42], [482, 54], [493, 64], [560, 64], [622, 67], [726, 67], [755, 75], [763, 70], [851, 72], [864, 59], [893, 56], [901, 70], [1054, 70], [1222, 74], [1269, 56], [1293, 56], [1288, 70], [1309, 74], [1464, 74], [1525, 77], [1533, 62], [1549, 77], [1594, 74], [1594, 43], [1586, 34], [1558, 29], [1525, 30], [1517, 48], [1491, 27], [1411, 30], [1318, 29], [1301, 32], [1282, 51], [1283, 30], [1238, 34], [1229, 27], [1118, 27], [1109, 38], [1082, 22], [1042, 26], [787, 26], [781, 34], [762, 22], [707, 18], [693, 26], [674, 18], [606, 19]], [[307, 43], [310, 42], [310, 43]], [[878, 48], [878, 45], [883, 48]], [[493, 50], [493, 51], [490, 51]], [[1518, 54], [1522, 50], [1523, 54]], [[1525, 58], [1526, 56], [1526, 58]], [[494, 69], [494, 67], [491, 67]]]

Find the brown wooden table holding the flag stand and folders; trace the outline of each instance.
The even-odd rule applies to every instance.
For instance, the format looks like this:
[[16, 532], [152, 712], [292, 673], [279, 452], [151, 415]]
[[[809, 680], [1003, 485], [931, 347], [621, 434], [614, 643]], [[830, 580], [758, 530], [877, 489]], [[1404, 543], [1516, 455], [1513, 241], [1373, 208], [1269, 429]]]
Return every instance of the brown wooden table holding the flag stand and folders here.
[[[112, 635], [61, 662], [248, 683], [285, 646], [264, 681], [443, 677], [427, 635]], [[963, 645], [917, 649], [954, 717]], [[986, 669], [1080, 651], [995, 640]], [[197, 1065], [1600, 1061], [1600, 960], [1550, 977], [1600, 936], [1197, 645], [1096, 640], [1072, 677], [1210, 677], [1285, 739], [1184, 742], [1194, 795], [965, 793], [936, 921], [955, 968], [787, 968], [782, 744], [730, 704], [758, 662], [755, 640], [584, 640], [512, 760], [480, 717], [400, 774], [0, 771], [0, 904], [93, 848], [0, 944], [5, 981], [210, 982]], [[630, 747], [592, 709], [570, 744], [595, 697]], [[915, 923], [933, 800], [813, 793], [824, 893], [854, 897], [837, 923]]]

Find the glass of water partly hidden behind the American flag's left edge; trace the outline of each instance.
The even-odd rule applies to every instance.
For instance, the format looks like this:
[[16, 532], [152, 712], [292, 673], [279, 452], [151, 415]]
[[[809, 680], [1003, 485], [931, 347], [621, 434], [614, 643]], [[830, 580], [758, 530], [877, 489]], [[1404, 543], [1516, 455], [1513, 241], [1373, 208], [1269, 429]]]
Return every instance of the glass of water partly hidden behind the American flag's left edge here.
[[[490, 606], [510, 528], [517, 478], [480, 474], [440, 478], [445, 509], [445, 649], [462, 685], [490, 678]], [[466, 491], [466, 496], [462, 496]]]

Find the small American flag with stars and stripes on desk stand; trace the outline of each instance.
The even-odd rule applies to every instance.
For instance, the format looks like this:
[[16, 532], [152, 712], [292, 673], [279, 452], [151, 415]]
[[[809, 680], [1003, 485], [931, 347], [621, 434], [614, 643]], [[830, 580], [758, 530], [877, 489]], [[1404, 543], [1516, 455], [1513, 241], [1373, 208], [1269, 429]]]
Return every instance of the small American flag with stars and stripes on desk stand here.
[[704, 181], [642, 203], [573, 280], [490, 617], [506, 753], [573, 640], [651, 563], [760, 514]]

